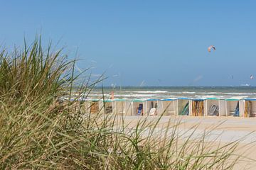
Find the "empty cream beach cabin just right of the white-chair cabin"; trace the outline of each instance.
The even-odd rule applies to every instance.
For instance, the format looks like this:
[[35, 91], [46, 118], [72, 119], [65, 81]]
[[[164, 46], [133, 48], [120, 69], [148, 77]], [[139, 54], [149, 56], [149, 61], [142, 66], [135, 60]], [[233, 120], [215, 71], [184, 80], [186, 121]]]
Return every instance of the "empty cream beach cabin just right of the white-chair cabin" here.
[[164, 113], [164, 115], [176, 115], [177, 111], [177, 105], [176, 105], [176, 99], [175, 98], [166, 98], [161, 99], [160, 103], [160, 109], [159, 114]]

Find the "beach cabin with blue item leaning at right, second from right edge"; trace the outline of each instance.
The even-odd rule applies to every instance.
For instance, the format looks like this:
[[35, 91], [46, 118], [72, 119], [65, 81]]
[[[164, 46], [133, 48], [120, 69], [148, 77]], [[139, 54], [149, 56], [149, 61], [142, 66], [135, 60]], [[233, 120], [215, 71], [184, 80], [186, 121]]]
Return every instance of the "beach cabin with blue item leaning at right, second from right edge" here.
[[226, 116], [240, 117], [241, 114], [240, 114], [240, 102], [239, 101], [240, 101], [239, 98], [226, 98], [225, 99]]

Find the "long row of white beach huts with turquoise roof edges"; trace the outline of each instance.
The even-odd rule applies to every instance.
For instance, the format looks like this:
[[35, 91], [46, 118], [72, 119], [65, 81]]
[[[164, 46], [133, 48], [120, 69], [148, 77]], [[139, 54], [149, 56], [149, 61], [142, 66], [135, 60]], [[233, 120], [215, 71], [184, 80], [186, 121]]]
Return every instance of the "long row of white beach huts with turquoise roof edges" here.
[[256, 117], [256, 98], [84, 99], [87, 113]]

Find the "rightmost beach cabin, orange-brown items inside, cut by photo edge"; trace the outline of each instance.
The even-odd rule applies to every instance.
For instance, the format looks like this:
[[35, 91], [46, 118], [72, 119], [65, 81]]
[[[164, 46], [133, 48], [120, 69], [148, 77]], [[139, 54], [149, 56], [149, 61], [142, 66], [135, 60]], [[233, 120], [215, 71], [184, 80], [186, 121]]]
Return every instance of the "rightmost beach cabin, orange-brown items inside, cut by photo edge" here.
[[256, 98], [245, 98], [244, 117], [256, 117]]

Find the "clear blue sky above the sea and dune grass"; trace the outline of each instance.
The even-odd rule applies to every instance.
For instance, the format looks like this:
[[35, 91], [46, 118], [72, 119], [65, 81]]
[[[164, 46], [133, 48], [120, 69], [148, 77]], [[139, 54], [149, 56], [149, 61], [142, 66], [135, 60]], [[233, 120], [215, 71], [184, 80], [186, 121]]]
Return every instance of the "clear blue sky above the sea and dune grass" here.
[[0, 2], [1, 46], [40, 34], [104, 86], [256, 86], [256, 1]]

